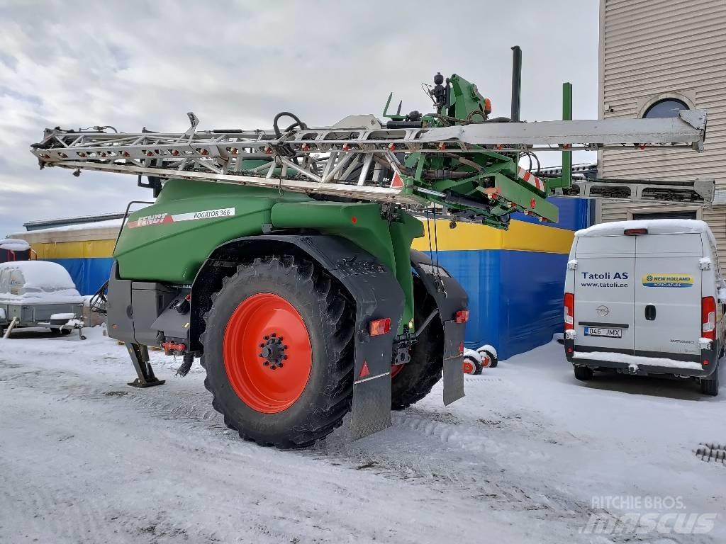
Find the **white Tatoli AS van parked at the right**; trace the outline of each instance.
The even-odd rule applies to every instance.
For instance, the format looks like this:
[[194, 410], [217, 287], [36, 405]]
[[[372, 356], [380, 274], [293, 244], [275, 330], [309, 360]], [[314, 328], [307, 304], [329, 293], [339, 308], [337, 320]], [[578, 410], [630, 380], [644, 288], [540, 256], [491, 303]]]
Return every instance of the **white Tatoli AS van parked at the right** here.
[[577, 231], [565, 281], [565, 353], [592, 371], [698, 379], [717, 395], [726, 285], [703, 221], [603, 223]]

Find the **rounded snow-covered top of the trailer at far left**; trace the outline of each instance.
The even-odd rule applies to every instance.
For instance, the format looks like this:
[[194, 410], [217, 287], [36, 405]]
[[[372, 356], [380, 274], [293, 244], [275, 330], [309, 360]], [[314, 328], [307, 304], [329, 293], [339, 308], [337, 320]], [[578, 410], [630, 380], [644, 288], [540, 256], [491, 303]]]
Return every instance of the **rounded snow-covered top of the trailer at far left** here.
[[0, 264], [0, 302], [62, 304], [82, 303], [68, 271], [46, 260]]

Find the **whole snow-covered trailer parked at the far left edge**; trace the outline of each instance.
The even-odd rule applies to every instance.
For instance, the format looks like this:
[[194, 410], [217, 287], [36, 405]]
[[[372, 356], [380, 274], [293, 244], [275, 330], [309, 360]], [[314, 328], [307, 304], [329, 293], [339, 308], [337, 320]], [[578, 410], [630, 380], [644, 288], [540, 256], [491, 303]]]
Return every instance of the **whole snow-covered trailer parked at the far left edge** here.
[[15, 327], [46, 327], [70, 334], [83, 317], [83, 297], [57, 263], [26, 260], [0, 264], [0, 336]]

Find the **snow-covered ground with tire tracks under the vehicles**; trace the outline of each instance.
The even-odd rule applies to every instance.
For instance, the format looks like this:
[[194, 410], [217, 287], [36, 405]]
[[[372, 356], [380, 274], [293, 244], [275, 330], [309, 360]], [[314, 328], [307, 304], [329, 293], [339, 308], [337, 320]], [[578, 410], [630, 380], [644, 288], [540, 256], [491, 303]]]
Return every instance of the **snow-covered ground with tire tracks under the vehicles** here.
[[582, 384], [553, 342], [449, 407], [437, 386], [384, 432], [283, 452], [224, 426], [198, 363], [174, 378], [154, 353], [166, 385], [136, 390], [123, 346], [86, 334], [0, 340], [2, 543], [726, 542], [726, 465], [695, 455], [726, 443], [726, 389]]

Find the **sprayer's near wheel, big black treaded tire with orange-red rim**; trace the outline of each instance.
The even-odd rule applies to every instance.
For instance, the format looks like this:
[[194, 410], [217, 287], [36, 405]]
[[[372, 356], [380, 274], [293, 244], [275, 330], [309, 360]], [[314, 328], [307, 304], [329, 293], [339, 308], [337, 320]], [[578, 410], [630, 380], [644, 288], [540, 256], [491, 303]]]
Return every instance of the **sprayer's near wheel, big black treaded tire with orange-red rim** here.
[[[222, 283], [200, 337], [216, 411], [260, 445], [304, 448], [326, 437], [353, 394], [354, 304], [346, 292], [317, 264], [290, 255], [239, 265]], [[293, 382], [296, 398], [296, 390], [280, 393]]]

